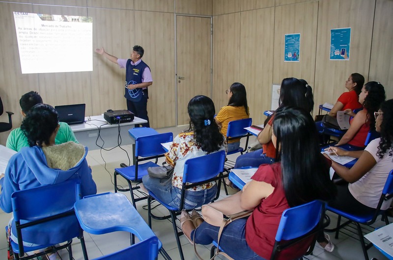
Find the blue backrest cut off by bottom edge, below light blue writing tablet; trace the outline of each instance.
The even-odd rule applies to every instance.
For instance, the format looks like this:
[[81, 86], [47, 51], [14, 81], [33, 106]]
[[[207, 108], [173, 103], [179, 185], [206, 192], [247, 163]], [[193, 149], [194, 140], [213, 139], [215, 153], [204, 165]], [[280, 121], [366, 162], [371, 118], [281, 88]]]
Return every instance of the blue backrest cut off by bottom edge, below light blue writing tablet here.
[[134, 258], [138, 260], [155, 260], [157, 259], [157, 257], [158, 238], [157, 236], [152, 236], [148, 239], [140, 241], [137, 244], [134, 244], [107, 256], [96, 258], [95, 260], [124, 260]]

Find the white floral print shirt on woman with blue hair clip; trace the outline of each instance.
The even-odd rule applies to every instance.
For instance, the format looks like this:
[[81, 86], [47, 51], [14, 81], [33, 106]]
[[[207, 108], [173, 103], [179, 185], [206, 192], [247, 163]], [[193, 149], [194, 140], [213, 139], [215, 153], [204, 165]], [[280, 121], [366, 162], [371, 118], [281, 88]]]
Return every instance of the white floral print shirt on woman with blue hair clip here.
[[[225, 150], [225, 145], [222, 145], [219, 150]], [[199, 157], [205, 154], [207, 153], [202, 151], [201, 147], [195, 141], [193, 132], [180, 133], [177, 135], [173, 139], [173, 143], [170, 145], [169, 151], [165, 154], [167, 163], [174, 166], [172, 185], [178, 189], [181, 189], [183, 186], [184, 163], [188, 159]], [[189, 184], [190, 183], [187, 183], [187, 185]], [[190, 190], [197, 191], [209, 189], [215, 184], [216, 182], [210, 182], [190, 188]]]

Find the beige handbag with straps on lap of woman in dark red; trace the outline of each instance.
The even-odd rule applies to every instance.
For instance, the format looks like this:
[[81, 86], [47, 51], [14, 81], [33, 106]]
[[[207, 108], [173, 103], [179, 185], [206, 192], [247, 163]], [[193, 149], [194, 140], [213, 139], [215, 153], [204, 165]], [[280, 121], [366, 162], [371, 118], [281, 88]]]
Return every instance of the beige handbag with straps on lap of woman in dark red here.
[[[228, 209], [234, 209], [234, 211], [237, 211], [237, 213], [225, 215], [224, 213], [222, 213], [218, 209], [214, 208], [213, 205], [216, 203], [211, 203], [211, 204], [202, 206], [203, 219], [208, 224], [210, 224], [212, 226], [220, 227], [220, 230], [218, 232], [217, 241], [216, 241], [217, 242], [217, 249], [216, 249], [216, 252], [214, 253], [214, 256], [210, 260], [213, 260], [217, 255], [223, 255], [223, 256], [225, 256], [225, 258], [227, 258], [229, 260], [233, 260], [225, 252], [220, 251], [221, 234], [222, 234], [225, 226], [228, 225], [229, 223], [231, 223], [232, 221], [239, 219], [239, 218], [248, 217], [249, 215], [251, 215], [253, 213], [253, 210], [244, 211], [240, 208], [236, 209], [236, 205], [233, 205], [233, 202], [230, 199], [226, 200], [226, 202], [228, 203], [228, 206], [230, 205], [230, 207]], [[193, 240], [195, 241], [195, 232], [194, 232]], [[203, 260], [197, 252], [196, 243], [194, 243], [194, 252], [199, 260]]]

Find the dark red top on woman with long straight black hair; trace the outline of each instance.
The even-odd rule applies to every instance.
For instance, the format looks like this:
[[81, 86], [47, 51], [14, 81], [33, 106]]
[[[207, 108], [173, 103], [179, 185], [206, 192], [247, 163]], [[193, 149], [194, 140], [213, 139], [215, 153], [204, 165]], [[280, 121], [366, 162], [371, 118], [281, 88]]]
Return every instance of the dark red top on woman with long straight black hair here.
[[[281, 214], [289, 208], [281, 184], [281, 163], [260, 165], [252, 179], [269, 183], [274, 187], [273, 193], [262, 199], [261, 204], [254, 209], [246, 224], [247, 244], [262, 258], [270, 259]], [[305, 241], [304, 246], [298, 244], [282, 251], [280, 259], [291, 260], [297, 252], [305, 252], [309, 247], [307, 242], [309, 241]]]

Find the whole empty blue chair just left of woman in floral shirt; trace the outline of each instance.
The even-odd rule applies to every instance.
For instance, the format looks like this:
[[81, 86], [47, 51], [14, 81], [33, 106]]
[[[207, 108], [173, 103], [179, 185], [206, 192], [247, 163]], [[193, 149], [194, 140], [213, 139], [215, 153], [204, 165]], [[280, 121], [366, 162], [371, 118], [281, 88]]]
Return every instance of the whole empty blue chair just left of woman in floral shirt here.
[[[137, 128], [138, 129], [138, 128]], [[134, 129], [130, 129], [132, 132]], [[147, 196], [138, 196], [134, 197], [134, 190], [138, 190], [139, 187], [132, 186], [132, 183], [140, 183], [142, 181], [142, 177], [147, 174], [148, 167], [158, 167], [157, 160], [160, 157], [164, 157], [165, 150], [161, 145], [162, 142], [171, 142], [173, 141], [172, 133], [164, 133], [150, 136], [139, 137], [135, 140], [135, 165], [131, 165], [124, 168], [115, 168], [114, 169], [114, 192], [119, 191], [130, 191], [131, 200], [134, 207], [136, 207], [136, 202], [146, 199]], [[155, 159], [155, 163], [147, 162], [144, 164], [140, 164], [140, 162], [153, 160]], [[128, 189], [119, 188], [117, 186], [117, 175], [123, 177], [128, 183]]]

